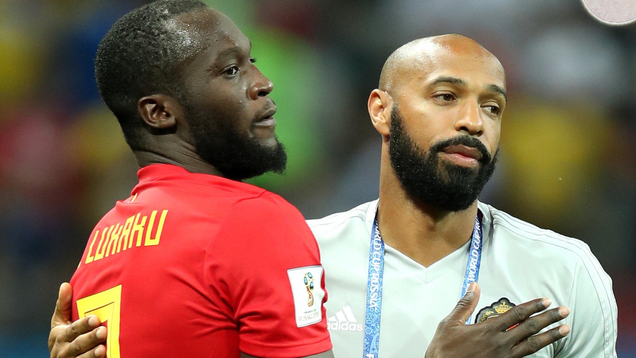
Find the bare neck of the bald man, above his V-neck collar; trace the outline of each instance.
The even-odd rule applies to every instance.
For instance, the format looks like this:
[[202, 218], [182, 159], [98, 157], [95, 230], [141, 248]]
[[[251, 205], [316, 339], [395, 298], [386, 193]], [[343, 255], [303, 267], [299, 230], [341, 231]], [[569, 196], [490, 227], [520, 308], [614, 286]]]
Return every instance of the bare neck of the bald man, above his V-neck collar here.
[[387, 245], [431, 266], [471, 239], [476, 214], [477, 201], [466, 210], [445, 211], [409, 196], [383, 148], [378, 229]]

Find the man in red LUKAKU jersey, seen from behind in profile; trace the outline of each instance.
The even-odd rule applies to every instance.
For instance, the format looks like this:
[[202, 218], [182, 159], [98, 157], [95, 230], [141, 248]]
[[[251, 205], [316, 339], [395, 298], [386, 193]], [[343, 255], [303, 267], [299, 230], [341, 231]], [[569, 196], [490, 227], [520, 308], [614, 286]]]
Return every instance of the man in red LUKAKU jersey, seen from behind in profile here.
[[100, 94], [141, 167], [71, 280], [73, 320], [105, 322], [109, 358], [333, 356], [314, 236], [241, 182], [286, 165], [250, 49], [194, 0], [142, 6], [99, 45]]

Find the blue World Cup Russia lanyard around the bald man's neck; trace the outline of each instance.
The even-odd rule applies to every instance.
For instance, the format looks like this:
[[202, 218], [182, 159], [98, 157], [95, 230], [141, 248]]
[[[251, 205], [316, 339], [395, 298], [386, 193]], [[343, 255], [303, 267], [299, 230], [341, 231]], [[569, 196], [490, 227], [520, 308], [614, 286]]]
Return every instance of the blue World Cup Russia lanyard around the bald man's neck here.
[[[466, 295], [468, 286], [479, 279], [481, 263], [481, 222], [475, 218], [473, 238], [466, 264], [466, 274], [462, 285], [462, 295]], [[371, 229], [371, 247], [369, 248], [369, 276], [366, 282], [366, 313], [364, 315], [363, 358], [378, 358], [380, 349], [380, 315], [382, 313], [382, 280], [384, 276], [384, 241], [378, 231], [378, 220], [373, 220]], [[470, 324], [471, 318], [466, 320]]]

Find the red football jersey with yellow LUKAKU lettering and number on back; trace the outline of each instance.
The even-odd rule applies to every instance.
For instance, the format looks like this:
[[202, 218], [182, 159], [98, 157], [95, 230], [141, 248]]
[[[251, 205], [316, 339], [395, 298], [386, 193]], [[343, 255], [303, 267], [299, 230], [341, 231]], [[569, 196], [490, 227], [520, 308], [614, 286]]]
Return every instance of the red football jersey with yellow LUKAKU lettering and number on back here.
[[301, 213], [246, 183], [154, 164], [99, 221], [71, 284], [109, 358], [303, 357], [331, 349]]

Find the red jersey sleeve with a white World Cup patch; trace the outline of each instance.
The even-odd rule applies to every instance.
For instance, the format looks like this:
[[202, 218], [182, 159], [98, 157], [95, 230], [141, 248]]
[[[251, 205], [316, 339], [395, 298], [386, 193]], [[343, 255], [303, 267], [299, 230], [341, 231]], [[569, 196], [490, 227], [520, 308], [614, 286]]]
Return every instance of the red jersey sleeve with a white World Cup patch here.
[[331, 349], [318, 245], [284, 199], [265, 192], [235, 204], [204, 266], [212, 296], [231, 310], [241, 352], [294, 358]]

